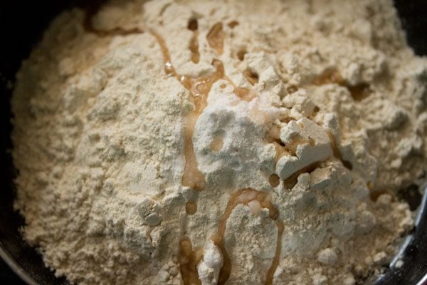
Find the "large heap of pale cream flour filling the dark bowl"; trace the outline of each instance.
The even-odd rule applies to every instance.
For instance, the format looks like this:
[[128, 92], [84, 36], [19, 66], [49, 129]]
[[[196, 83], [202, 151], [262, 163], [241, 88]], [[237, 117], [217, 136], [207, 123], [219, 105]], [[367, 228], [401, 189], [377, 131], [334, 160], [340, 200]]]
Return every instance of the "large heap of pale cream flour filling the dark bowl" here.
[[57, 276], [350, 285], [388, 263], [427, 169], [427, 60], [391, 1], [89, 16], [58, 16], [12, 98], [16, 209]]

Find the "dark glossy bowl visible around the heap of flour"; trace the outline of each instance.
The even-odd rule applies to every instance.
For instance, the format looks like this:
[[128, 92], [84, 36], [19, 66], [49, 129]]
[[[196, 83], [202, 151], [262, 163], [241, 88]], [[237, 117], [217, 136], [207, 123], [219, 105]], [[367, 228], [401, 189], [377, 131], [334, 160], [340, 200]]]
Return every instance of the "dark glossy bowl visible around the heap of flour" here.
[[[98, 1], [98, 0], [96, 0]], [[53, 17], [63, 9], [85, 6], [93, 1], [84, 0], [38, 0], [1, 1], [0, 4], [0, 100], [1, 100], [1, 146], [0, 146], [0, 257], [28, 284], [68, 284], [65, 278], [56, 278], [47, 269], [41, 255], [23, 241], [19, 227], [23, 218], [13, 209], [15, 196], [14, 177], [16, 170], [11, 155], [11, 110], [9, 100], [14, 76], [23, 58], [41, 38], [43, 30]], [[427, 55], [427, 1], [396, 0], [408, 43], [418, 55]], [[401, 191], [412, 209], [418, 207], [416, 226], [404, 238], [399, 254], [384, 267], [384, 274], [372, 276], [366, 284], [427, 284], [427, 195], [421, 198], [418, 187], [412, 185]], [[396, 266], [397, 260], [404, 265]]]

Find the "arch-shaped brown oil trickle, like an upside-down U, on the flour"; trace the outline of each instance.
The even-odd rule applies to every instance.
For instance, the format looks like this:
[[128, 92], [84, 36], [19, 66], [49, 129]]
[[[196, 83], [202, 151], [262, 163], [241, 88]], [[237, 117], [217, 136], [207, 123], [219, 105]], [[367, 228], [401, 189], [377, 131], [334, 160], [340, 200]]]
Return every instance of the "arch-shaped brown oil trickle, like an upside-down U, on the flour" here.
[[260, 207], [267, 208], [269, 212], [270, 219], [273, 219], [278, 227], [278, 238], [275, 249], [275, 257], [271, 263], [270, 269], [268, 269], [268, 274], [265, 279], [265, 284], [270, 285], [273, 284], [273, 274], [275, 269], [278, 266], [278, 262], [280, 259], [281, 252], [281, 240], [283, 235], [284, 225], [283, 222], [278, 220], [279, 212], [271, 202], [271, 196], [266, 192], [260, 192], [257, 190], [253, 190], [251, 188], [245, 188], [234, 192], [230, 199], [228, 199], [227, 207], [221, 217], [221, 220], [218, 225], [218, 230], [216, 234], [212, 237], [212, 240], [216, 244], [216, 246], [220, 249], [221, 254], [223, 256], [223, 266], [221, 271], [219, 271], [218, 276], [218, 285], [223, 285], [226, 283], [231, 274], [231, 259], [228, 256], [228, 252], [226, 250], [226, 245], [224, 243], [224, 234], [226, 232], [226, 224], [228, 217], [230, 217], [231, 212], [238, 204], [245, 204], [251, 207], [251, 211], [253, 214], [258, 214], [258, 207], [253, 206], [259, 205]]

